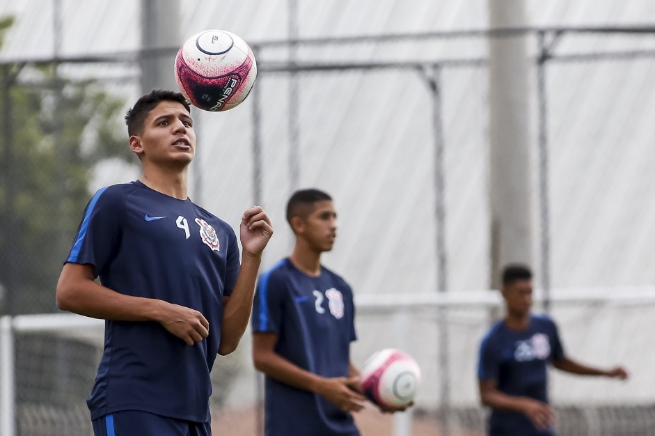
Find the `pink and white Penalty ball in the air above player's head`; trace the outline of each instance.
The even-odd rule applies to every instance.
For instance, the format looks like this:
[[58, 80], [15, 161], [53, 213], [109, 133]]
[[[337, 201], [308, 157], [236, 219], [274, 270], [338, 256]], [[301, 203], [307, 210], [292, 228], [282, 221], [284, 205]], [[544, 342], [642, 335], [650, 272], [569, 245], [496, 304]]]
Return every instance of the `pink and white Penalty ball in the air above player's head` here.
[[226, 111], [243, 102], [257, 77], [255, 55], [246, 42], [212, 29], [187, 39], [175, 56], [175, 80], [191, 104]]

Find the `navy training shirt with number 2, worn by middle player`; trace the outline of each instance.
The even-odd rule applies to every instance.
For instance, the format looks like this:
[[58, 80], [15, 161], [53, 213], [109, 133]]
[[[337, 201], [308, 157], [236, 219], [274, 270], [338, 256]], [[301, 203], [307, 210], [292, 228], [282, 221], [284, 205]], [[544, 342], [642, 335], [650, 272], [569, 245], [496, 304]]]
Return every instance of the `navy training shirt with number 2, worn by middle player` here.
[[[253, 333], [278, 336], [275, 351], [322, 377], [347, 377], [350, 343], [356, 339], [350, 286], [322, 267], [309, 277], [286, 258], [260, 276]], [[323, 396], [271, 377], [265, 381], [266, 436], [357, 436], [352, 415]]]

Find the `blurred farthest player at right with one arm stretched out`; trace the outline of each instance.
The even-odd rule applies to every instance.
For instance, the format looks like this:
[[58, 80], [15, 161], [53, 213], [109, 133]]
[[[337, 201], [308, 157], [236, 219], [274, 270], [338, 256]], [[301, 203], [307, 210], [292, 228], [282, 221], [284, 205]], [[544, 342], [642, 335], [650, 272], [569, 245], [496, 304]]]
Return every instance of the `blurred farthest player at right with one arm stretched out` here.
[[567, 373], [628, 377], [617, 366], [608, 371], [567, 357], [555, 322], [532, 308], [532, 272], [524, 265], [503, 270], [505, 318], [494, 324], [480, 345], [478, 380], [482, 404], [491, 407], [490, 436], [546, 436], [553, 431], [547, 392], [547, 364]]

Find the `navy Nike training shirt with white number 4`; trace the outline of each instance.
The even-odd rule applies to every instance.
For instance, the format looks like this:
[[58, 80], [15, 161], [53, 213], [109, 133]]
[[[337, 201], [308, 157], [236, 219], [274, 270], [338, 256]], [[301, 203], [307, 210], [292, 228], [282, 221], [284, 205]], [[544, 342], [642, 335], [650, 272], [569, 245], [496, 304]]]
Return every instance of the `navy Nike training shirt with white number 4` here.
[[223, 296], [239, 273], [237, 237], [189, 199], [142, 182], [100, 189], [84, 211], [67, 262], [90, 264], [103, 286], [203, 313], [209, 336], [187, 345], [158, 322], [106, 321], [104, 353], [87, 400], [91, 419], [141, 410], [207, 422]]

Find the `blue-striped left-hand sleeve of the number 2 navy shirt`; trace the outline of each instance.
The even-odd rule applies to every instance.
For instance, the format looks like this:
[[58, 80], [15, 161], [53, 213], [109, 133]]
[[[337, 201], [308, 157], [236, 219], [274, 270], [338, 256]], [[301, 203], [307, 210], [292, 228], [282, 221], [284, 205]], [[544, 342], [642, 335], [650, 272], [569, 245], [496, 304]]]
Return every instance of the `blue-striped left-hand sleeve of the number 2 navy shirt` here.
[[255, 288], [253, 301], [253, 316], [251, 325], [253, 332], [279, 333], [282, 322], [283, 303], [281, 295], [284, 289], [274, 270], [262, 274]]

